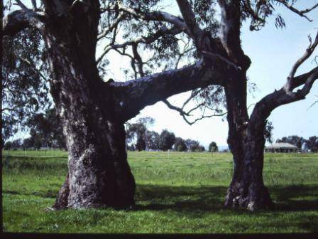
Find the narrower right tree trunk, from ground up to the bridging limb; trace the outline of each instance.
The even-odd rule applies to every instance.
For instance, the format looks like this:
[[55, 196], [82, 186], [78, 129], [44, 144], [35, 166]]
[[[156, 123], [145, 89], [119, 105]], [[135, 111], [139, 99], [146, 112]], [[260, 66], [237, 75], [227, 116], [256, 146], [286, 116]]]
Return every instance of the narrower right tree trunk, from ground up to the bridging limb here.
[[273, 205], [263, 184], [265, 120], [248, 119], [246, 73], [230, 78], [225, 87], [228, 107], [228, 144], [234, 160], [234, 174], [226, 194], [227, 207], [255, 211]]

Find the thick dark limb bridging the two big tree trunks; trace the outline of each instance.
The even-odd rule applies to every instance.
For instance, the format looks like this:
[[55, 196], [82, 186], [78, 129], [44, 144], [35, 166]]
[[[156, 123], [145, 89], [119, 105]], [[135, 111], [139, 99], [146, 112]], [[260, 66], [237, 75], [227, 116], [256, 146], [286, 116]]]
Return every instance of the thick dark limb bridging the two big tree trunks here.
[[121, 120], [125, 122], [138, 115], [147, 105], [197, 87], [220, 85], [223, 78], [224, 73], [207, 68], [203, 60], [200, 60], [184, 68], [167, 70], [124, 83], [114, 82], [110, 86], [116, 95], [117, 104], [120, 105]]

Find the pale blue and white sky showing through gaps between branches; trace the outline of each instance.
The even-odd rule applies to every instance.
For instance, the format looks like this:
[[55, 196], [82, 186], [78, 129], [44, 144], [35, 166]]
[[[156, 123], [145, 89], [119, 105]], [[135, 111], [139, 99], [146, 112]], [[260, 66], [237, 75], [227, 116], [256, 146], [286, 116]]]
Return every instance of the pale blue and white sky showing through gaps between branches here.
[[[298, 2], [302, 4], [302, 8], [317, 3], [313, 0]], [[253, 92], [254, 97], [251, 94], [248, 95], [248, 105], [258, 102], [268, 93], [283, 86], [292, 65], [305, 53], [309, 43], [307, 36], [310, 33], [314, 38], [315, 32], [318, 30], [317, 10], [308, 15], [314, 20], [313, 22], [309, 22], [283, 7], [279, 7], [278, 10], [285, 18], [286, 28], [275, 28], [273, 17], [268, 19], [268, 23], [261, 31], [249, 31], [248, 23], [245, 23], [242, 28], [243, 50], [252, 60], [248, 77], [258, 87], [258, 90]], [[165, 11], [168, 10], [165, 9]], [[173, 4], [170, 12], [179, 14]], [[318, 55], [318, 51], [314, 55]], [[114, 74], [114, 79], [123, 78], [118, 69], [119, 65], [126, 67], [125, 59], [119, 55], [111, 55], [111, 59], [109, 68]], [[296, 75], [314, 68], [315, 63], [312, 63], [312, 59], [313, 57], [307, 60]], [[175, 95], [168, 100], [181, 106], [188, 94]], [[308, 110], [309, 106], [316, 100], [318, 100], [318, 83], [315, 83], [312, 87], [312, 91], [306, 100], [283, 105], [274, 110], [269, 117], [274, 126], [273, 139], [276, 140], [292, 134], [305, 138], [318, 135], [318, 104]], [[253, 106], [250, 107], [249, 112], [251, 110], [253, 110]], [[145, 116], [155, 118], [155, 124], [150, 129], [156, 132], [168, 129], [174, 132], [177, 137], [198, 140], [205, 147], [212, 141], [215, 141], [218, 145], [227, 145], [228, 126], [226, 120], [222, 121], [221, 117], [202, 119], [190, 126], [178, 112], [168, 109], [163, 102], [146, 107], [135, 119]]]

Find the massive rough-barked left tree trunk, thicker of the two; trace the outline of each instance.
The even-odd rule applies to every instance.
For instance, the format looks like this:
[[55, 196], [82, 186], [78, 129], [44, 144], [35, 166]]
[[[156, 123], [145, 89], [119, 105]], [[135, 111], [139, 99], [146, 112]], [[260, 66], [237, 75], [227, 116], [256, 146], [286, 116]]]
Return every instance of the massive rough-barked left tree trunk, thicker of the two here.
[[[98, 1], [97, 1], [98, 2]], [[54, 208], [132, 206], [124, 122], [95, 62], [99, 14], [77, 9], [45, 27], [51, 94], [67, 141], [68, 174]]]

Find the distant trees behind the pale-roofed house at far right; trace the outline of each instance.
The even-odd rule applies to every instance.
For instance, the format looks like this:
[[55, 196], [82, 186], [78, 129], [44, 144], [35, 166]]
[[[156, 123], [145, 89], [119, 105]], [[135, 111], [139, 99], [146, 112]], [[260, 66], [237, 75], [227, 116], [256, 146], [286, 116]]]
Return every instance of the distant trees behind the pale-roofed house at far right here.
[[289, 144], [295, 145], [300, 150], [304, 149], [305, 151], [310, 150], [310, 152], [316, 152], [316, 153], [318, 152], [318, 137], [317, 136], [312, 136], [312, 137], [309, 137], [308, 139], [305, 139], [297, 135], [291, 135], [288, 137], [277, 139], [276, 143], [289, 143]]

